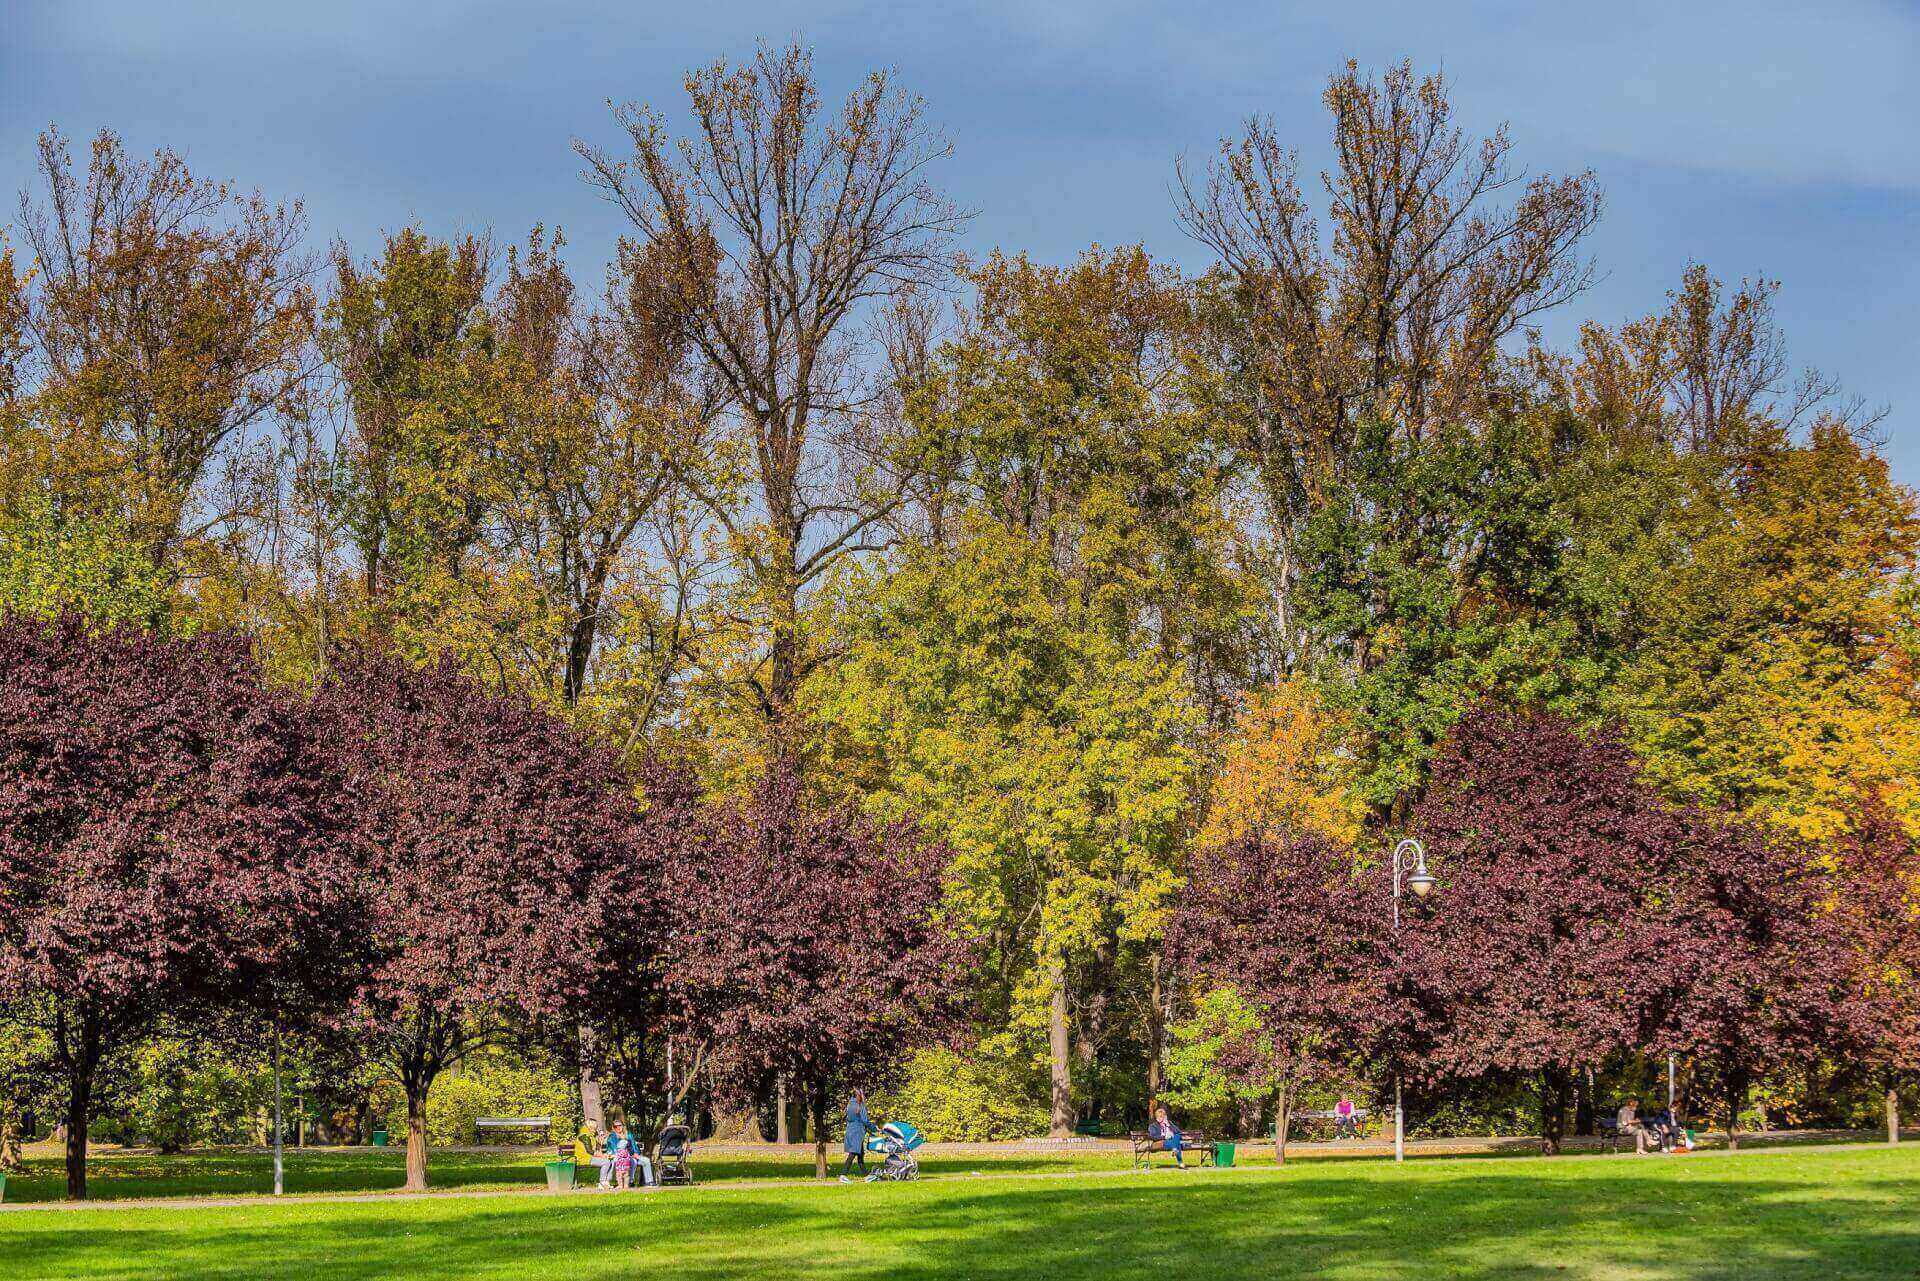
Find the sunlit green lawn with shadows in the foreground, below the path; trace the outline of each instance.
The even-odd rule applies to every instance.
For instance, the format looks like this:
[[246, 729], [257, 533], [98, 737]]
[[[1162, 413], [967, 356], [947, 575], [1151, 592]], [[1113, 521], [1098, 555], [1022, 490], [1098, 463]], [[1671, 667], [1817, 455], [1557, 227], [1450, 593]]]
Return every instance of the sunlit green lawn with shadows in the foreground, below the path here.
[[641, 1269], [835, 1281], [1912, 1277], [1920, 1148], [0, 1214], [0, 1277]]

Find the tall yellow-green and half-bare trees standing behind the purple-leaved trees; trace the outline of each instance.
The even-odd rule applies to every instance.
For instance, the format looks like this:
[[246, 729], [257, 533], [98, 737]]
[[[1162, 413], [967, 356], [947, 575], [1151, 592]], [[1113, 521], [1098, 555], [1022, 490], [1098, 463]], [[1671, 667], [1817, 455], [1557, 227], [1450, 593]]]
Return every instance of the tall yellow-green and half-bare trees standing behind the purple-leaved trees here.
[[0, 590], [240, 632], [269, 684], [451, 663], [703, 801], [912, 824], [966, 1062], [1056, 1133], [1164, 1089], [1196, 858], [1390, 845], [1484, 699], [1814, 858], [1860, 797], [1912, 830], [1920, 522], [1776, 284], [1695, 265], [1551, 350], [1596, 177], [1409, 65], [1325, 102], [1323, 175], [1260, 119], [1179, 167], [1198, 275], [958, 259], [925, 106], [831, 106], [799, 48], [689, 75], [684, 140], [634, 106], [576, 144], [630, 221], [597, 288], [559, 232], [313, 252], [298, 205], [48, 136], [0, 248]]

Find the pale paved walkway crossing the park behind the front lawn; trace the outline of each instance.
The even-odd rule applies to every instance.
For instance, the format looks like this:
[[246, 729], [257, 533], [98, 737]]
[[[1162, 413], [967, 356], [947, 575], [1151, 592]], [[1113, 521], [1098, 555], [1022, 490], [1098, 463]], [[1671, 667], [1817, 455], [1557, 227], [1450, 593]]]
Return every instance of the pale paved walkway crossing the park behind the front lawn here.
[[[1884, 1150], [1887, 1145], [1884, 1139], [1872, 1141], [1866, 1137], [1870, 1131], [1857, 1129], [1811, 1129], [1811, 1131], [1778, 1131], [1772, 1135], [1745, 1135], [1741, 1139], [1741, 1148], [1730, 1152], [1724, 1147], [1701, 1147], [1686, 1160], [1701, 1156], [1772, 1156], [1780, 1152], [1791, 1152], [1811, 1145], [1818, 1145], [1828, 1152], [1860, 1152], [1860, 1150]], [[1912, 1135], [1916, 1131], [1903, 1131], [1903, 1135]], [[1851, 1141], [1847, 1141], [1851, 1139]], [[1043, 1154], [1043, 1152], [1106, 1152], [1119, 1150], [1121, 1154], [1131, 1148], [1127, 1143], [1100, 1141], [1100, 1139], [1079, 1139], [1079, 1141], [1052, 1141], [1037, 1139], [1025, 1143], [927, 1143], [922, 1152], [927, 1154], [979, 1154], [979, 1156], [1010, 1156], [1010, 1154]], [[1465, 1147], [1478, 1145], [1478, 1147]], [[1490, 1145], [1523, 1145], [1513, 1147], [1490, 1147]], [[1534, 1158], [1548, 1160], [1540, 1156], [1540, 1139], [1423, 1139], [1419, 1143], [1407, 1143], [1407, 1152], [1423, 1156], [1459, 1156], [1475, 1152], [1511, 1152], [1515, 1160]], [[499, 1148], [486, 1148], [499, 1150]], [[804, 1156], [812, 1152], [810, 1145], [787, 1145], [785, 1148], [774, 1147], [770, 1143], [703, 1143], [701, 1150], [707, 1152], [791, 1152], [793, 1156]], [[1319, 1156], [1379, 1156], [1392, 1154], [1392, 1143], [1379, 1141], [1357, 1141], [1357, 1143], [1288, 1143], [1286, 1154], [1292, 1158], [1296, 1152], [1319, 1154]], [[1605, 1152], [1590, 1148], [1567, 1147], [1563, 1156], [1551, 1160], [1572, 1160], [1572, 1158], [1596, 1158]], [[1653, 1158], [1647, 1158], [1653, 1160]], [[1676, 1158], [1678, 1160], [1678, 1158]], [[1012, 1181], [1041, 1181], [1041, 1179], [1125, 1179], [1125, 1177], [1154, 1177], [1154, 1179], [1235, 1179], [1258, 1173], [1279, 1173], [1271, 1164], [1260, 1166], [1231, 1166], [1227, 1170], [1215, 1170], [1212, 1166], [1188, 1168], [1185, 1172], [1175, 1172], [1171, 1166], [1152, 1166], [1152, 1168], [1121, 1168], [1121, 1170], [1016, 1170], [1016, 1172], [985, 1172], [970, 1170], [966, 1173], [927, 1173], [922, 1175], [922, 1183], [1012, 1183]], [[693, 1187], [647, 1187], [632, 1189], [639, 1196], [682, 1196], [699, 1195], [703, 1191], [741, 1191], [741, 1189], [791, 1189], [791, 1187], [814, 1187], [829, 1189], [835, 1183], [820, 1183], [818, 1179], [714, 1179], [708, 1183], [695, 1183]], [[860, 1185], [854, 1185], [860, 1187]], [[88, 1212], [88, 1210], [200, 1210], [200, 1208], [271, 1208], [282, 1204], [355, 1204], [355, 1202], [392, 1202], [392, 1200], [490, 1200], [501, 1196], [618, 1196], [618, 1193], [601, 1193], [599, 1189], [580, 1189], [578, 1193], [547, 1193], [538, 1187], [470, 1187], [470, 1189], [447, 1189], [447, 1191], [424, 1191], [424, 1193], [294, 1193], [288, 1196], [138, 1196], [123, 1200], [35, 1200], [35, 1202], [12, 1202], [0, 1204], [0, 1214], [33, 1214], [42, 1210], [52, 1212]]]

